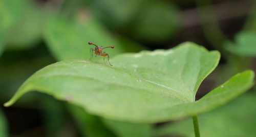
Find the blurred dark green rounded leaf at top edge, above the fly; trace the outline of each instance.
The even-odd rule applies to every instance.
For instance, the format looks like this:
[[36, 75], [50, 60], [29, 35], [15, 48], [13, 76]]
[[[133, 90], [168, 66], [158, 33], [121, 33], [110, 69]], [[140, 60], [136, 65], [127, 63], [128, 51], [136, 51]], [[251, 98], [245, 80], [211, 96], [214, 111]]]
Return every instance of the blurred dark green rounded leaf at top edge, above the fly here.
[[99, 0], [90, 8], [106, 25], [120, 29], [127, 25], [148, 0]]

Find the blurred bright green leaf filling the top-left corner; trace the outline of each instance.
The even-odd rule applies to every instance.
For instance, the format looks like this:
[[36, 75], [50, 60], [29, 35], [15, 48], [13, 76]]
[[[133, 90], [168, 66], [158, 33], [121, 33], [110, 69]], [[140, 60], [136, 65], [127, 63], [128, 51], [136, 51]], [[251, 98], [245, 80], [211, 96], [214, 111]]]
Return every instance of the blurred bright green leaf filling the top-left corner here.
[[4, 32], [6, 48], [20, 50], [36, 45], [35, 43], [41, 38], [47, 17], [53, 14], [48, 11], [28, 0], [17, 2], [0, 0], [0, 18], [3, 17], [0, 22], [0, 32]]

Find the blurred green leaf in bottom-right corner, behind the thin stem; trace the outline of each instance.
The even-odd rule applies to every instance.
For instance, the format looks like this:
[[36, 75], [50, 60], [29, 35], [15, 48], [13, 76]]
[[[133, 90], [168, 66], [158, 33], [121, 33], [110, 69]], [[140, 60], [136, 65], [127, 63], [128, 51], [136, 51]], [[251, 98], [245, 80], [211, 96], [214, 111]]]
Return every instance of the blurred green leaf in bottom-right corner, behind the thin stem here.
[[[247, 93], [198, 117], [202, 136], [256, 136], [256, 92]], [[160, 126], [157, 136], [195, 136], [192, 119]]]

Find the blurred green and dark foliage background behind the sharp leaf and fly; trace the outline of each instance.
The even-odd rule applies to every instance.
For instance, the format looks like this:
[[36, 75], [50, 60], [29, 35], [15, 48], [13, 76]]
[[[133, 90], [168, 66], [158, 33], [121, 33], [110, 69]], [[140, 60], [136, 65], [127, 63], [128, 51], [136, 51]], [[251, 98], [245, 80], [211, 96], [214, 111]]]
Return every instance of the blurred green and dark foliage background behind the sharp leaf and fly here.
[[[1, 104], [42, 67], [89, 58], [89, 41], [114, 45], [114, 50], [106, 49], [110, 60], [124, 52], [169, 49], [184, 41], [220, 51], [219, 66], [199, 88], [200, 99], [232, 75], [256, 70], [256, 1], [0, 0]], [[200, 115], [202, 136], [256, 136], [255, 93], [253, 87]], [[193, 136], [192, 125], [189, 120], [106, 120], [36, 92], [0, 108], [0, 136]]]

